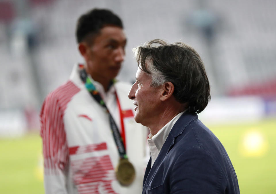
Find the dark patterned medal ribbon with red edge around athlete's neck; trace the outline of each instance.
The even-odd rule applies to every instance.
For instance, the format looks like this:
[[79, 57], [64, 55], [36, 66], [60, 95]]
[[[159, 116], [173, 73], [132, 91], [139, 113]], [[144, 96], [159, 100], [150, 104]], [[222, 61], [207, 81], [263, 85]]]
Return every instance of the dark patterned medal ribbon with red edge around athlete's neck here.
[[[118, 148], [118, 152], [120, 155], [121, 159], [127, 159], [127, 154], [126, 154], [126, 149], [125, 149], [125, 142], [123, 142], [123, 139], [120, 135], [119, 129], [113, 119], [113, 117], [111, 116], [106, 104], [104, 103], [104, 100], [101, 98], [99, 92], [97, 91], [97, 89], [95, 88], [94, 84], [91, 82], [91, 80], [89, 79], [89, 77], [87, 76], [87, 73], [84, 69], [83, 65], [79, 65], [80, 68], [80, 77], [81, 80], [83, 81], [83, 83], [85, 83], [85, 87], [87, 88], [87, 90], [90, 92], [91, 96], [93, 96], [93, 98], [102, 106], [106, 109], [107, 113], [108, 113], [108, 117], [109, 117], [109, 122], [110, 122], [110, 127], [112, 130], [112, 134], [115, 140], [115, 143], [117, 145]], [[110, 82], [110, 86], [115, 82], [115, 80], [112, 80]], [[118, 103], [118, 107], [120, 110], [120, 118], [121, 118], [121, 124], [122, 124], [122, 133], [124, 133], [124, 124], [123, 124], [123, 118], [122, 118], [122, 111], [121, 111], [121, 107], [119, 104], [119, 99], [118, 96], [115, 92], [116, 95], [116, 99], [117, 99], [117, 103]], [[124, 136], [124, 134], [123, 134]]]

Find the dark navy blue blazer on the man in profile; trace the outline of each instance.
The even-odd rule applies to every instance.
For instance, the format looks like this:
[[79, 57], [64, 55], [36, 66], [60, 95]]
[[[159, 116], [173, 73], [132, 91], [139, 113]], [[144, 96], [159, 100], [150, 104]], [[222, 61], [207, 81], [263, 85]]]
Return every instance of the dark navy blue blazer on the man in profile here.
[[239, 193], [233, 165], [218, 138], [196, 114], [185, 112], [170, 131], [151, 168], [143, 194]]

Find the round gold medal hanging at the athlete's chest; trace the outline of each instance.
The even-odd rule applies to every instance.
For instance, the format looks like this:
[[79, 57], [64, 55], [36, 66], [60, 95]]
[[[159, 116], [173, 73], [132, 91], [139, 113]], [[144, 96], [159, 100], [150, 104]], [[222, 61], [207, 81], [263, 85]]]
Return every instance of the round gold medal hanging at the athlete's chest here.
[[115, 170], [116, 177], [121, 185], [130, 185], [135, 178], [135, 169], [128, 159], [120, 159]]

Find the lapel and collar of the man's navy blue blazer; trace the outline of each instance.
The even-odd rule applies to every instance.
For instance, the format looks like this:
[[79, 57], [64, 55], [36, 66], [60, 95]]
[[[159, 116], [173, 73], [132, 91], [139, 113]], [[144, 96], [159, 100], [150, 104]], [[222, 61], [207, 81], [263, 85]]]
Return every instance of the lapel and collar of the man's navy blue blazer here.
[[170, 149], [175, 144], [175, 139], [177, 136], [181, 135], [186, 128], [186, 126], [193, 120], [198, 119], [197, 114], [191, 114], [189, 112], [184, 112], [181, 117], [176, 121], [174, 124], [172, 130], [170, 131], [162, 149], [160, 150], [160, 153], [158, 157], [156, 158], [154, 164], [151, 166], [151, 158], [147, 165], [144, 181], [143, 181], [143, 191], [145, 191], [149, 185], [149, 183], [152, 181], [157, 169], [159, 168], [161, 162], [164, 160]]

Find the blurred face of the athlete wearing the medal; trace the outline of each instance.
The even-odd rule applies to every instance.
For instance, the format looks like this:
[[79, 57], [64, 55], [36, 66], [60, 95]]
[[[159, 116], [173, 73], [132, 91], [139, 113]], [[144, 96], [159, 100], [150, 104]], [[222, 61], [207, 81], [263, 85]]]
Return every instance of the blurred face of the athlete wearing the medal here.
[[126, 43], [122, 28], [106, 26], [100, 30], [92, 45], [87, 45], [83, 55], [87, 72], [93, 79], [111, 80], [118, 75], [125, 57]]

